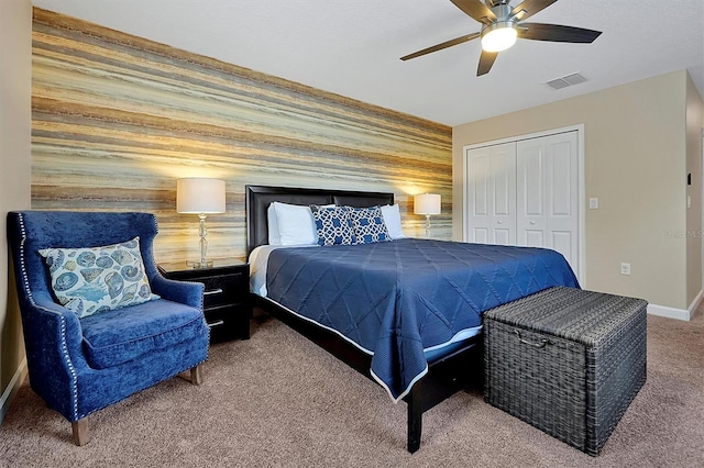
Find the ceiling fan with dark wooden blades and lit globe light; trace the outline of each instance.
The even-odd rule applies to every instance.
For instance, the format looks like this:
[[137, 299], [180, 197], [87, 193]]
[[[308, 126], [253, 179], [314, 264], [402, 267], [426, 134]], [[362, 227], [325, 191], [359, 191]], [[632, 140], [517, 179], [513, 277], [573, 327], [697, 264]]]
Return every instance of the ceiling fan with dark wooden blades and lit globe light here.
[[450, 0], [457, 8], [482, 23], [482, 31], [466, 34], [438, 45], [424, 48], [414, 54], [400, 57], [402, 60], [420, 57], [432, 52], [442, 51], [453, 45], [481, 37], [482, 55], [476, 68], [476, 76], [486, 75], [494, 65], [499, 52], [516, 43], [516, 38], [532, 41], [592, 43], [602, 34], [601, 31], [560, 24], [525, 23], [524, 20], [544, 10], [558, 0], [525, 0], [512, 8], [510, 0]]

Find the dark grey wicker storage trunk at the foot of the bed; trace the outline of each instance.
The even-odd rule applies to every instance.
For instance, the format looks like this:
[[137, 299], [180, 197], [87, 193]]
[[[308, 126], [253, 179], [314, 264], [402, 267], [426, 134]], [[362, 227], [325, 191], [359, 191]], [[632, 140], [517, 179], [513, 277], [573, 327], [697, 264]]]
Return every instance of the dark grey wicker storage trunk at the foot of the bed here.
[[641, 299], [551, 288], [484, 313], [484, 400], [597, 456], [646, 381]]

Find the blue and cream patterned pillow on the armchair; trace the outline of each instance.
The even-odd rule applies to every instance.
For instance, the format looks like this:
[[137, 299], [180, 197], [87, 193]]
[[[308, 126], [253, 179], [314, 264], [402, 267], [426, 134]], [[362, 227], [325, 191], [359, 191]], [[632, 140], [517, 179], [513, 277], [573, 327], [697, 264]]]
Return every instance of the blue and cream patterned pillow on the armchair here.
[[158, 299], [152, 293], [140, 237], [88, 248], [44, 248], [58, 302], [79, 317]]

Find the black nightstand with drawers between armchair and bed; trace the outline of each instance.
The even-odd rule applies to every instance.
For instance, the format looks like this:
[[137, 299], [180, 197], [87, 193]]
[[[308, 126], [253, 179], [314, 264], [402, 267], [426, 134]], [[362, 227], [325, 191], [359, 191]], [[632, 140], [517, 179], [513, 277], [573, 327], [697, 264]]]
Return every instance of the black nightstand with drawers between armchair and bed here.
[[210, 327], [210, 342], [250, 337], [252, 304], [250, 302], [250, 265], [216, 263], [212, 268], [169, 269], [164, 276], [180, 281], [202, 282], [204, 314]]

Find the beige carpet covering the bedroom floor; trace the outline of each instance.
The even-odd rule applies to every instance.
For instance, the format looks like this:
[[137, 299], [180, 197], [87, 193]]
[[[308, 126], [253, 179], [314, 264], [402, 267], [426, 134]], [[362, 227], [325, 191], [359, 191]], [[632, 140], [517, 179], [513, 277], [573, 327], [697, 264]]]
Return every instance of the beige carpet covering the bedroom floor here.
[[648, 381], [592, 458], [458, 393], [424, 417], [406, 452], [406, 405], [286, 325], [216, 345], [205, 383], [176, 378], [89, 417], [92, 441], [24, 386], [0, 426], [1, 467], [704, 466], [704, 314], [648, 317]]

